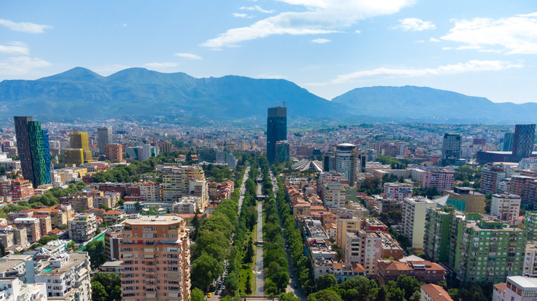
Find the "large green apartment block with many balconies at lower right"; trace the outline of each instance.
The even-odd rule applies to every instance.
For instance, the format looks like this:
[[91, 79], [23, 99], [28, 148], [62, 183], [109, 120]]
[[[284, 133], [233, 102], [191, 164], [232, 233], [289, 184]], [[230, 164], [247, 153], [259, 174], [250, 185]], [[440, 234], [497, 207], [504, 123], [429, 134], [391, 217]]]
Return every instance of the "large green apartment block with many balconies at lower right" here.
[[497, 283], [523, 273], [526, 241], [527, 231], [481, 214], [429, 209], [423, 250], [447, 262], [463, 282]]

